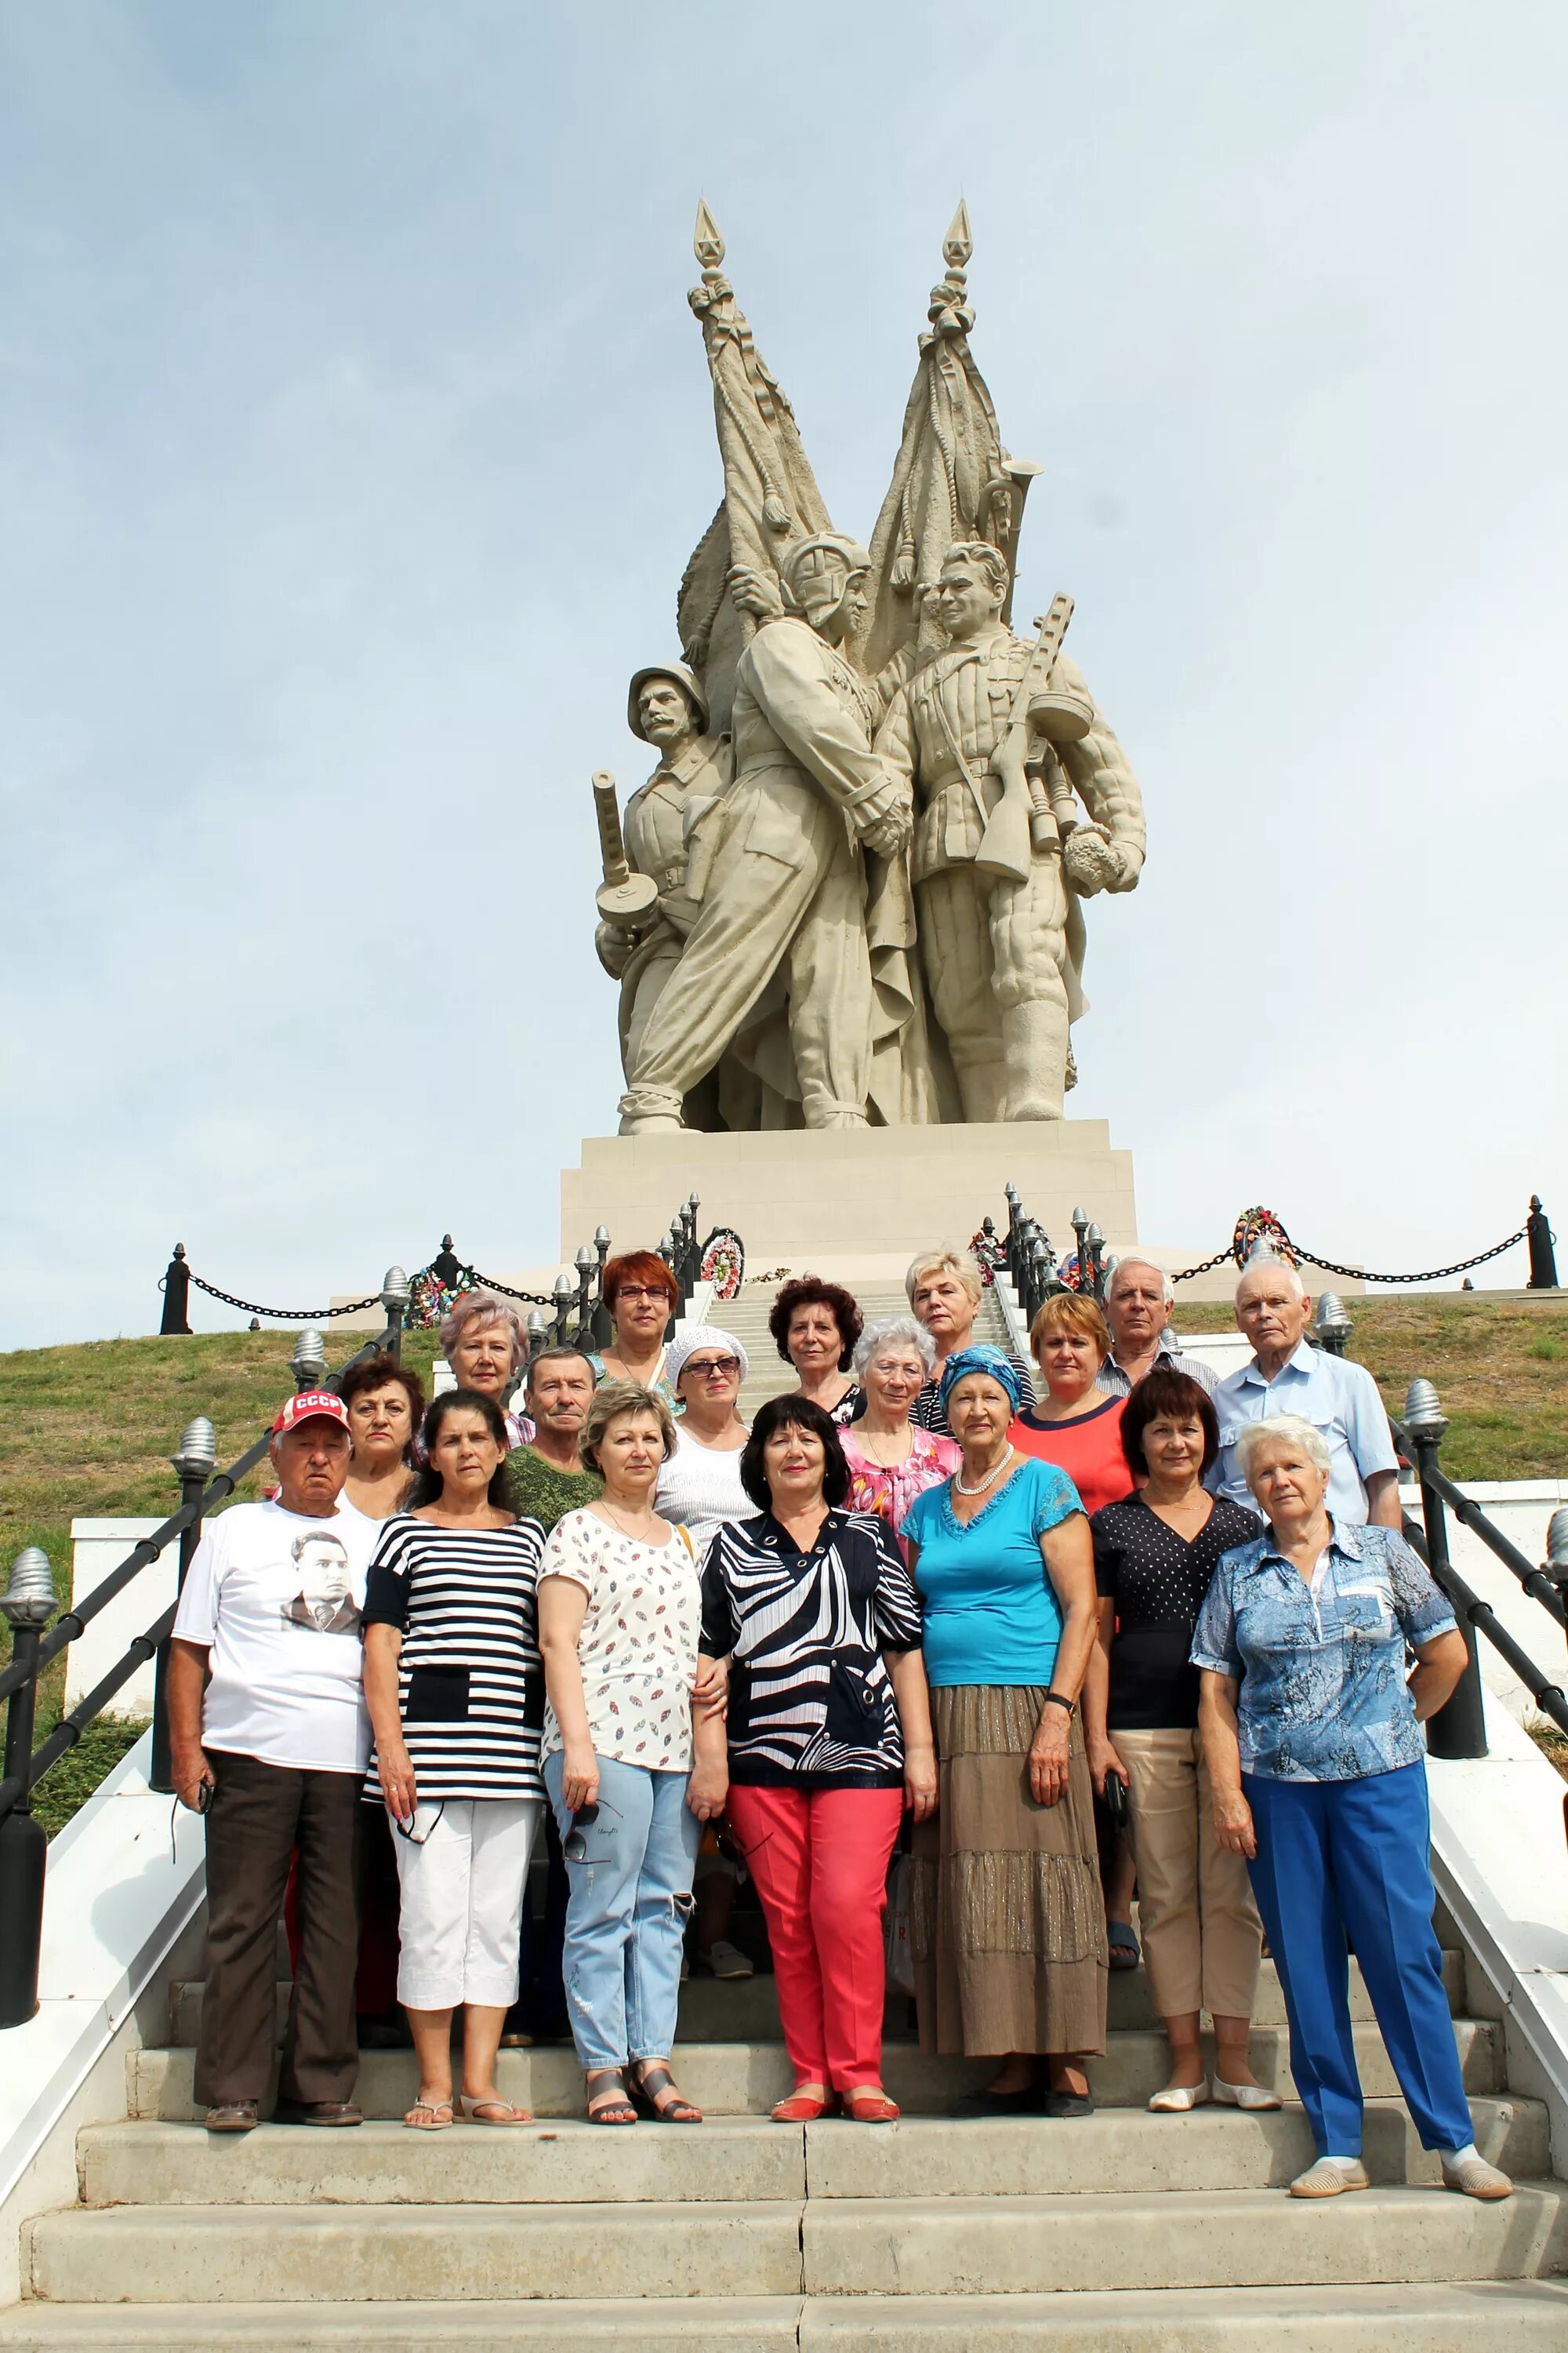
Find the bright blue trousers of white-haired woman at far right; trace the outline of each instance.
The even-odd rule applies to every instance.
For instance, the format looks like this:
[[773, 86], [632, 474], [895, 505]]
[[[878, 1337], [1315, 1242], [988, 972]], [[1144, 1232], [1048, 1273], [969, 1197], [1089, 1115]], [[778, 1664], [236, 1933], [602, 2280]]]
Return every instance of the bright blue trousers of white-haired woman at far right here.
[[1241, 1788], [1258, 1833], [1253, 1894], [1291, 2019], [1291, 2073], [1319, 2155], [1361, 2155], [1349, 1946], [1422, 2148], [1465, 2148], [1469, 2106], [1432, 1929], [1427, 1767], [1361, 1781], [1244, 1774]]

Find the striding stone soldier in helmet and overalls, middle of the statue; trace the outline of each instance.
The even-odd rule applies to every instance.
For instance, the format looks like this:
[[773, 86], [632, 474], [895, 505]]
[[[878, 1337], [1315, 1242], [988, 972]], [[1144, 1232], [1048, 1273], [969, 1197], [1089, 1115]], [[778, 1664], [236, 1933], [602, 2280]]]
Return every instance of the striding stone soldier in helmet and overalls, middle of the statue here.
[[[736, 776], [696, 922], [628, 1066], [621, 1134], [679, 1127], [684, 1096], [724, 1049], [738, 1045], [748, 1059], [748, 1024], [766, 1038], [778, 995], [792, 1068], [759, 1078], [799, 1099], [806, 1127], [865, 1125], [872, 967], [860, 845], [896, 856], [910, 833], [907, 795], [872, 753], [875, 699], [837, 652], [865, 614], [867, 567], [853, 539], [797, 541], [780, 572], [790, 609], [741, 654]], [[769, 588], [736, 574], [743, 607], [776, 609]]]

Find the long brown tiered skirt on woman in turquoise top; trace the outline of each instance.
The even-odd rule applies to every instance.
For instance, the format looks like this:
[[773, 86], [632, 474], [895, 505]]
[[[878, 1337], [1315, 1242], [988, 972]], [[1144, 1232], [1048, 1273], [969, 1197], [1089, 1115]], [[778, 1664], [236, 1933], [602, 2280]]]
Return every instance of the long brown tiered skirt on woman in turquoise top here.
[[1037, 1805], [1044, 1689], [931, 1692], [940, 1809], [912, 1838], [910, 1946], [926, 2052], [1103, 2052], [1105, 1899], [1074, 1715], [1067, 1795]]

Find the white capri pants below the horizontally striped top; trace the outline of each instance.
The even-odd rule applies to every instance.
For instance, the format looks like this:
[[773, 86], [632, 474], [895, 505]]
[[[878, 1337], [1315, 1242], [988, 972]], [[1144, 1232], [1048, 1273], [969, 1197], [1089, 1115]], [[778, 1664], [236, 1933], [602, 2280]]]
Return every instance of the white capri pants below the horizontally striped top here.
[[400, 1892], [397, 2000], [456, 2009], [517, 2000], [517, 1929], [541, 1798], [433, 1798], [411, 1835], [393, 1824]]

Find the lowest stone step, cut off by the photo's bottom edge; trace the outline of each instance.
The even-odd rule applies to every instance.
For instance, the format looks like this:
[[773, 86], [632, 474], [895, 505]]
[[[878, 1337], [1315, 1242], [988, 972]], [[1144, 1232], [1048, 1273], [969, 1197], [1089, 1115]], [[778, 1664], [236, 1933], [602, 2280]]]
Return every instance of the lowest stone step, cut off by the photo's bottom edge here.
[[646, 2297], [517, 2304], [19, 2304], [7, 2353], [1561, 2353], [1568, 2287], [1187, 2287], [1051, 2297]]

